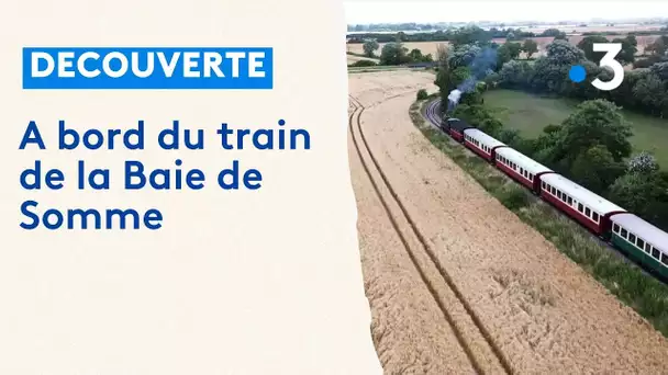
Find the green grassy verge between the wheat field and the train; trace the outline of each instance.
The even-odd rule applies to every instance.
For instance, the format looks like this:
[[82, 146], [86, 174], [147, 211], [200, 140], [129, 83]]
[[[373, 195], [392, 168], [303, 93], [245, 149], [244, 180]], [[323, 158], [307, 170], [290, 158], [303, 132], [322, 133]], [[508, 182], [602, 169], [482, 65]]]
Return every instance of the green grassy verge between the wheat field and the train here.
[[448, 156], [522, 221], [536, 229], [560, 252], [578, 263], [610, 293], [668, 338], [668, 285], [613, 254], [579, 225], [427, 124], [423, 113], [432, 98], [433, 95], [427, 100], [414, 102], [409, 110], [413, 124], [432, 145]]

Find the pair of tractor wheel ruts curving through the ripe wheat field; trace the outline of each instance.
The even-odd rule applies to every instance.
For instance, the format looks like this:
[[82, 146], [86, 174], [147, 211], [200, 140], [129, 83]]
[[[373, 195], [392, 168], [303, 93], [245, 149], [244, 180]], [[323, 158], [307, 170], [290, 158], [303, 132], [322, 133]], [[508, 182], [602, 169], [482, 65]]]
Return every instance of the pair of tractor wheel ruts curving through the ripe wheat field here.
[[[385, 208], [385, 213], [387, 214], [387, 217], [390, 219], [394, 231], [399, 236], [399, 239], [401, 240], [405, 252], [408, 253], [408, 255], [411, 259], [413, 265], [415, 266], [417, 273], [420, 274], [420, 279], [422, 280], [425, 287], [428, 289], [431, 296], [434, 298], [438, 308], [443, 312], [444, 319], [447, 321], [449, 327], [453, 329], [453, 331], [456, 336], [457, 342], [461, 346], [463, 351], [466, 353], [466, 356], [470, 361], [471, 366], [478, 374], [490, 373], [490, 371], [487, 371], [485, 368], [485, 367], [489, 368], [489, 366], [486, 366], [481, 363], [482, 361], [474, 353], [474, 350], [471, 350], [471, 343], [469, 341], [467, 341], [467, 339], [465, 338], [465, 333], [463, 332], [463, 329], [460, 326], [460, 325], [463, 325], [463, 322], [459, 321], [461, 319], [456, 319], [454, 314], [452, 314], [454, 306], [446, 307], [446, 304], [444, 303], [444, 297], [442, 297], [438, 292], [438, 288], [443, 288], [444, 286], [446, 286], [447, 289], [449, 292], [452, 292], [452, 294], [455, 295], [456, 300], [460, 305], [460, 306], [457, 306], [457, 308], [463, 308], [466, 311], [466, 315], [472, 321], [472, 325], [475, 325], [479, 334], [485, 339], [483, 340], [485, 345], [487, 345], [489, 348], [489, 350], [493, 353], [493, 356], [496, 356], [496, 360], [499, 362], [499, 365], [502, 368], [502, 371], [505, 374], [514, 374], [515, 372], [514, 372], [513, 367], [511, 366], [508, 357], [500, 350], [499, 345], [494, 342], [489, 330], [482, 323], [482, 320], [474, 311], [474, 309], [471, 308], [468, 300], [464, 297], [464, 295], [461, 294], [461, 292], [459, 291], [457, 285], [454, 283], [453, 279], [450, 277], [447, 270], [443, 266], [442, 262], [435, 255], [434, 250], [430, 247], [424, 235], [421, 232], [421, 230], [415, 225], [415, 221], [412, 219], [412, 217], [408, 213], [408, 211], [407, 211], [405, 206], [403, 205], [403, 203], [401, 202], [399, 195], [392, 188], [392, 184], [388, 181], [388, 178], [385, 174], [385, 172], [382, 171], [382, 168], [380, 167], [380, 164], [378, 163], [378, 160], [374, 156], [374, 152], [371, 151], [371, 148], [368, 145], [367, 138], [365, 137], [365, 133], [364, 133], [361, 122], [360, 122], [361, 114], [364, 113], [364, 111], [367, 107], [365, 107], [365, 105], [363, 105], [361, 102], [359, 102], [353, 95], [349, 95], [349, 102], [353, 106], [353, 111], [348, 117], [348, 132], [350, 133], [350, 137], [353, 139], [353, 143], [354, 143], [354, 146], [356, 149], [356, 154], [361, 162], [361, 166], [366, 172], [366, 175], [368, 177], [369, 181], [371, 182], [371, 184], [374, 186], [374, 191], [375, 191], [377, 197], [380, 200], [380, 202]], [[364, 156], [365, 154], [368, 155], [368, 157], [365, 157]], [[378, 178], [374, 177], [375, 173], [380, 177], [380, 181], [378, 181]], [[381, 193], [381, 191], [386, 191], [386, 190], [387, 190], [387, 192], [389, 192], [389, 194]], [[390, 204], [394, 204], [399, 207], [399, 213], [396, 214], [396, 215], [400, 216], [399, 220], [392, 214]], [[415, 238], [417, 239], [419, 246], [411, 247], [409, 245], [410, 241], [407, 240], [399, 221], [405, 221], [407, 225], [404, 225], [403, 229], [405, 230], [407, 226], [408, 226], [408, 228], [410, 228], [410, 230], [408, 230], [408, 232], [415, 236]], [[423, 264], [421, 264], [421, 262], [417, 259], [420, 255], [422, 258], [424, 258], [424, 255], [426, 255], [426, 258], [432, 263], [431, 265], [433, 265], [437, 270], [437, 273], [439, 275], [439, 277], [436, 277], [437, 280], [434, 280], [435, 277], [430, 277], [427, 272], [424, 270]], [[435, 284], [442, 284], [442, 285], [435, 285]]]

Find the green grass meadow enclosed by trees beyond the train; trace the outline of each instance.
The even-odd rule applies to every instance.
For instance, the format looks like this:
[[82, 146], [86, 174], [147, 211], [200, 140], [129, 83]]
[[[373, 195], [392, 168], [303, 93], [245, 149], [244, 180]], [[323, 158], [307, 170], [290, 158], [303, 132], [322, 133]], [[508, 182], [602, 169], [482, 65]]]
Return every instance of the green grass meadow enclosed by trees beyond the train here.
[[[549, 124], [558, 125], [575, 110], [575, 100], [542, 98], [512, 90], [492, 90], [485, 93], [485, 105], [508, 128], [536, 137]], [[631, 139], [634, 151], [649, 151], [663, 169], [668, 169], [668, 120], [623, 111], [632, 124]]]

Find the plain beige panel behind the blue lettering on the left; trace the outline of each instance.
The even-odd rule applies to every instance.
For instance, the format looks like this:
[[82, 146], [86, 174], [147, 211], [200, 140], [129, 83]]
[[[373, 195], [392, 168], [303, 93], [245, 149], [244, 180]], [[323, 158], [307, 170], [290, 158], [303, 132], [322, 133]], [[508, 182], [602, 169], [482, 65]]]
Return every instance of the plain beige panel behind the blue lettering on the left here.
[[[0, 374], [380, 374], [369, 333], [346, 152], [341, 2], [10, 1], [0, 13]], [[302, 15], [299, 15], [299, 13]], [[303, 14], [308, 14], [304, 16]], [[304, 31], [310, 31], [309, 34]], [[23, 46], [272, 46], [272, 91], [22, 91]], [[215, 129], [305, 127], [310, 151], [225, 151]], [[147, 149], [58, 151], [78, 129], [147, 126]], [[163, 151], [178, 118], [204, 151]], [[30, 120], [49, 150], [20, 151]], [[204, 170], [202, 191], [122, 191], [122, 163]], [[62, 191], [23, 191], [35, 159]], [[257, 168], [259, 191], [216, 189], [220, 169]], [[76, 162], [112, 169], [78, 191]], [[67, 183], [66, 182], [66, 183]], [[20, 205], [158, 207], [157, 231], [23, 230]], [[42, 211], [43, 212], [43, 211]]]

